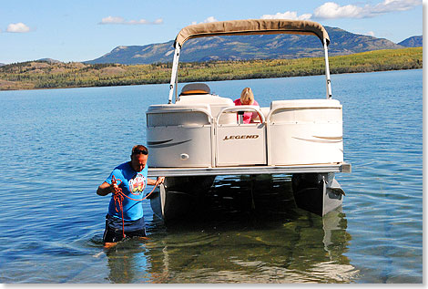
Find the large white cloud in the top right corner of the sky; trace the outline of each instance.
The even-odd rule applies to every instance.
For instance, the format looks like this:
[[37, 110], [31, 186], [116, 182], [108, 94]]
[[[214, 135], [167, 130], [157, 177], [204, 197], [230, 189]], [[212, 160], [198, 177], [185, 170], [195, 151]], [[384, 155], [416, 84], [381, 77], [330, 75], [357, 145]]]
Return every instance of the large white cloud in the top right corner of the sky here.
[[422, 0], [384, 0], [377, 5], [338, 5], [327, 2], [314, 11], [314, 17], [321, 19], [335, 18], [368, 18], [376, 15], [395, 11], [410, 10], [415, 6], [422, 5]]

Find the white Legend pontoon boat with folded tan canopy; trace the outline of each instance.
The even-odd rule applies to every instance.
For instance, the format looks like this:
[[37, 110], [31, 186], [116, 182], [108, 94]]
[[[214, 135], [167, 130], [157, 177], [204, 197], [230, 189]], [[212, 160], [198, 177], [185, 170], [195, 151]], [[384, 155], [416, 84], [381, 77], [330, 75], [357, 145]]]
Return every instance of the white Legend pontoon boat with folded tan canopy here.
[[[275, 100], [268, 108], [235, 106], [203, 83], [190, 83], [178, 95], [178, 57], [187, 40], [265, 34], [320, 38], [325, 99]], [[151, 199], [153, 211], [173, 220], [189, 210], [188, 197], [208, 191], [216, 176], [256, 174], [291, 174], [296, 203], [311, 212], [325, 215], [341, 206], [344, 192], [334, 174], [351, 172], [351, 164], [343, 161], [341, 103], [331, 98], [329, 43], [325, 28], [312, 21], [235, 20], [181, 29], [174, 44], [168, 103], [151, 105], [146, 112], [148, 173], [166, 176]], [[257, 113], [257, 120], [242, 123], [243, 111]]]

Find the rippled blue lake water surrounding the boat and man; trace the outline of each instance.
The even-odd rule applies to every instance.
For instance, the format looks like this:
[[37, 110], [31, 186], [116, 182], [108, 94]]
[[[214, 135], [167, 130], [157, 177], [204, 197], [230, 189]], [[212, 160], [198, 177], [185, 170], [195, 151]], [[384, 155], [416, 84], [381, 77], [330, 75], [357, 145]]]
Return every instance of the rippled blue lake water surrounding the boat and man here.
[[[104, 250], [97, 186], [136, 143], [168, 85], [0, 92], [0, 283], [422, 283], [423, 71], [333, 75], [352, 173], [337, 212], [298, 209], [290, 176], [218, 178], [210, 218], [166, 227], [144, 203], [148, 241]], [[325, 98], [324, 77], [211, 82], [260, 106]], [[181, 87], [181, 85], [180, 85]]]

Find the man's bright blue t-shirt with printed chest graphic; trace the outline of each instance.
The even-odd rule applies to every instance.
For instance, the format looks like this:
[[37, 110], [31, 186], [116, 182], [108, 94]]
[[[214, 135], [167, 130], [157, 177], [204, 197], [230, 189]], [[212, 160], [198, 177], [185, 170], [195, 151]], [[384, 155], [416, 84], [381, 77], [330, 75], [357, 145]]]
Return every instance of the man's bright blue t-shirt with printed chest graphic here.
[[[115, 170], [110, 173], [110, 176], [106, 180], [109, 184], [111, 184], [113, 176], [115, 176], [119, 188], [122, 189], [122, 192], [129, 198], [135, 200], [141, 200], [144, 198], [143, 191], [148, 185], [148, 166], [141, 171], [135, 171], [132, 169], [129, 161], [127, 161], [117, 166]], [[135, 221], [143, 217], [142, 201], [133, 201], [129, 200], [127, 197], [123, 197], [122, 203], [123, 219], [125, 221]], [[118, 203], [116, 203], [115, 207], [113, 194], [110, 204], [108, 205], [108, 214], [122, 219], [122, 212], [120, 212]]]

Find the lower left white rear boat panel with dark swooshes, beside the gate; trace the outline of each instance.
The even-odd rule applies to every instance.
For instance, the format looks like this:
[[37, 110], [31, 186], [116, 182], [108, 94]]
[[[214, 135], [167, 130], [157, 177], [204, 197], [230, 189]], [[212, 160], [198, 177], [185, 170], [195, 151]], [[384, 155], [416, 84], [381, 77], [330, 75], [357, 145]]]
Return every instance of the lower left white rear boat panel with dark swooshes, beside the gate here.
[[211, 166], [211, 126], [148, 127], [148, 167]]

